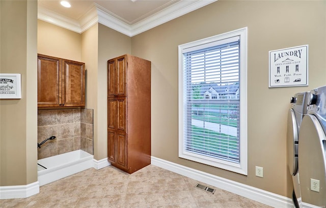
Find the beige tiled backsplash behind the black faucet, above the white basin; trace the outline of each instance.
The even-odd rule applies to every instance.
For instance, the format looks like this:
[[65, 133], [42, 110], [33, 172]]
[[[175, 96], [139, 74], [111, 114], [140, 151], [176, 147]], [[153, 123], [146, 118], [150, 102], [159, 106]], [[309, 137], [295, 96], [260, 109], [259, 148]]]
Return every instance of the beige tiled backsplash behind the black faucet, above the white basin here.
[[[93, 109], [38, 110], [38, 159], [75, 150], [93, 155]], [[36, 144], [35, 144], [36, 146]]]

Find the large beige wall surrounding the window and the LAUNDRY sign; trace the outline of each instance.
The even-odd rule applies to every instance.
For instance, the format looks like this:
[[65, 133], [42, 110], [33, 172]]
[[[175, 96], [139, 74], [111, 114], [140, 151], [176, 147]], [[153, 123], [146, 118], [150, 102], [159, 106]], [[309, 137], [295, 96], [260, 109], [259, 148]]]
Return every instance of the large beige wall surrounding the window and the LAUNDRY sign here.
[[[289, 98], [326, 84], [325, 1], [218, 1], [132, 37], [152, 62], [152, 156], [290, 197]], [[248, 176], [178, 158], [178, 45], [248, 26]], [[309, 44], [309, 86], [268, 88], [268, 51]], [[264, 177], [255, 176], [255, 166]]]

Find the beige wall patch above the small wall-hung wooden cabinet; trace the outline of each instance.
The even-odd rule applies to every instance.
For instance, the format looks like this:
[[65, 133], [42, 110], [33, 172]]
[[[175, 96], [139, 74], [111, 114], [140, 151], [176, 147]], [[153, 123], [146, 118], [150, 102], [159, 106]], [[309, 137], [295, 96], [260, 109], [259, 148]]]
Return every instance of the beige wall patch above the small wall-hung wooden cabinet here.
[[82, 62], [82, 35], [38, 20], [37, 52]]

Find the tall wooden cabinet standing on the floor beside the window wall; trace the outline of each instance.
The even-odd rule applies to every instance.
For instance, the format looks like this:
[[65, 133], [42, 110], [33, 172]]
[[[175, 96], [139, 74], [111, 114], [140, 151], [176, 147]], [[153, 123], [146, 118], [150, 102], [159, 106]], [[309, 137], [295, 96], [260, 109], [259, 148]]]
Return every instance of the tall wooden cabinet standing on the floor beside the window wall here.
[[107, 158], [133, 173], [151, 163], [151, 62], [107, 61]]

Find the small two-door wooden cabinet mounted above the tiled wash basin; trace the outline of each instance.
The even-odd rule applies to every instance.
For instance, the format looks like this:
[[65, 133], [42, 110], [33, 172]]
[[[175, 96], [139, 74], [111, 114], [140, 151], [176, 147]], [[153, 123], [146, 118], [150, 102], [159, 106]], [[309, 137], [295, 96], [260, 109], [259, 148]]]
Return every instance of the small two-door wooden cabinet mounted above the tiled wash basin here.
[[38, 107], [85, 107], [85, 63], [38, 54]]

